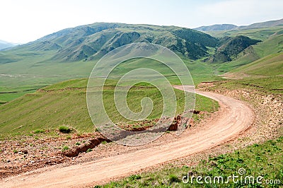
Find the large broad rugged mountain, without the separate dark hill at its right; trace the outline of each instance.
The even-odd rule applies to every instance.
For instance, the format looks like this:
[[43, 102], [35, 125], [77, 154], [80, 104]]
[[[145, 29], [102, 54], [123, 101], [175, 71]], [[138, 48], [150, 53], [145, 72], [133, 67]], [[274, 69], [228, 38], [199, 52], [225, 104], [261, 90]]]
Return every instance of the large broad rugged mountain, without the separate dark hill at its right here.
[[81, 61], [132, 42], [151, 42], [190, 59], [199, 59], [207, 56], [207, 47], [215, 47], [217, 40], [205, 33], [175, 26], [93, 23], [60, 30], [14, 50], [53, 50], [56, 51], [52, 57], [54, 61]]

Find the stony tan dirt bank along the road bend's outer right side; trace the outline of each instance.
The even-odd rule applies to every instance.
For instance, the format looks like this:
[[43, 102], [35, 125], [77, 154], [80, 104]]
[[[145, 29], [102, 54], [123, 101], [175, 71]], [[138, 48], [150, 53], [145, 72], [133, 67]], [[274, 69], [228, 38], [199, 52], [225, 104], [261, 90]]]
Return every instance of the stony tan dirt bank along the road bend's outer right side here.
[[253, 109], [255, 121], [241, 136], [246, 138], [245, 146], [273, 139], [283, 133], [283, 95], [264, 93], [252, 88], [227, 89], [222, 86], [222, 82], [202, 83], [198, 88], [242, 100]]

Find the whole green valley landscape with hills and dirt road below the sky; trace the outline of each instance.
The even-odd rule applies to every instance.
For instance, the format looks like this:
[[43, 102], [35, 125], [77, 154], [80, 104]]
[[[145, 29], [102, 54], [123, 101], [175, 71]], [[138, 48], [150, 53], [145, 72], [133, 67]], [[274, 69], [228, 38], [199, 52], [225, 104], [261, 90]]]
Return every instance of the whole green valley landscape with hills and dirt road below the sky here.
[[[115, 125], [147, 130], [162, 119], [164, 98], [150, 83], [136, 83], [126, 96], [134, 113], [143, 110], [144, 98], [151, 99], [154, 108], [146, 119], [127, 119], [115, 106], [120, 78], [149, 68], [171, 84], [177, 107], [173, 124], [185, 126], [180, 135], [166, 130], [145, 145], [124, 146], [93, 125], [86, 90], [100, 58], [134, 42], [171, 49], [194, 86], [180, 86], [179, 75], [154, 59], [128, 59], [115, 67], [103, 85], [103, 107]], [[183, 124], [183, 90], [192, 88], [195, 108]], [[0, 187], [186, 187], [187, 173], [227, 177], [239, 168], [264, 180], [282, 180], [274, 184], [281, 186], [282, 95], [282, 20], [195, 30], [93, 23], [1, 49]]]

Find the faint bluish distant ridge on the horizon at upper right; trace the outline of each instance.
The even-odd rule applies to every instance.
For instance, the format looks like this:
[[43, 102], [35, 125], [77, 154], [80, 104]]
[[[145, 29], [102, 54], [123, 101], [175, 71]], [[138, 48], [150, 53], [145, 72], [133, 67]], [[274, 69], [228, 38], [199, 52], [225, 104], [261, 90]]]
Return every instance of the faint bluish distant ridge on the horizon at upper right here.
[[283, 18], [280, 20], [270, 20], [261, 23], [253, 23], [251, 25], [242, 25], [242, 26], [237, 26], [233, 24], [215, 24], [215, 25], [201, 26], [199, 28], [194, 28], [194, 30], [198, 30], [198, 31], [246, 30], [246, 29], [255, 29], [255, 28], [274, 27], [278, 25], [283, 25]]

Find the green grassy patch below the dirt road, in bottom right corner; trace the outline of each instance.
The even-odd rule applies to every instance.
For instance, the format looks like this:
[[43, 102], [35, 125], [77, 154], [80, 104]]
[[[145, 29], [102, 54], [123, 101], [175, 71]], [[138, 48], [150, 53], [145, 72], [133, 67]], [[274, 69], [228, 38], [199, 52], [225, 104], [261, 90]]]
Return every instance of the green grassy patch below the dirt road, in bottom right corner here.
[[[163, 168], [155, 172], [144, 172], [99, 187], [279, 187], [283, 185], [282, 149], [283, 136], [275, 140], [248, 146], [233, 153], [209, 157], [209, 159], [202, 160], [193, 167]], [[241, 175], [238, 174], [240, 168], [246, 170], [245, 175], [247, 176], [262, 176], [262, 184], [241, 182]], [[190, 177], [192, 175], [203, 178], [222, 176], [224, 180], [227, 180], [231, 175], [238, 175], [239, 179], [237, 180], [239, 182], [233, 183], [230, 179], [229, 184], [218, 184], [217, 182], [214, 184], [213, 181], [212, 183], [205, 183], [202, 180], [204, 184], [198, 184], [194, 179], [192, 184], [190, 181], [185, 184], [182, 180], [188, 173]], [[139, 178], [132, 178], [136, 176]], [[266, 180], [280, 180], [281, 183], [266, 184]]]

